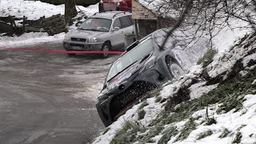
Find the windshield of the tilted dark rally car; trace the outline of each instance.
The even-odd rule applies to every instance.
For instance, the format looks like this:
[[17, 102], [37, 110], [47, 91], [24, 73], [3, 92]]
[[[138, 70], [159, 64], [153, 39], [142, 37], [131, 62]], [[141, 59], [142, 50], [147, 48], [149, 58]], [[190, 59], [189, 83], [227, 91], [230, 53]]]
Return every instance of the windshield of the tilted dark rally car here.
[[144, 58], [147, 54], [150, 54], [150, 52], [153, 50], [152, 38], [147, 38], [145, 41], [142, 41], [140, 44], [138, 44], [138, 46], [128, 51], [113, 63], [113, 65], [110, 67], [110, 72], [106, 77], [106, 82], [110, 81], [110, 79], [114, 78], [114, 76], [134, 64], [134, 62], [137, 62], [138, 60]]

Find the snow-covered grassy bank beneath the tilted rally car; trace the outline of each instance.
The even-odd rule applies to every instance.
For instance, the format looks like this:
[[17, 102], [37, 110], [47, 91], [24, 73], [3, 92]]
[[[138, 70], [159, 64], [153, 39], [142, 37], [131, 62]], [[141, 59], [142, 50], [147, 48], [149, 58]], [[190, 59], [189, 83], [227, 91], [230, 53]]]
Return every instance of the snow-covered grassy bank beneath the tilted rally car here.
[[[217, 76], [222, 75], [222, 81], [226, 80], [230, 72], [233, 70], [232, 67], [240, 60], [242, 60], [242, 65], [244, 66], [244, 68], [241, 68], [242, 71], [239, 72], [239, 74], [242, 76], [246, 76], [250, 70], [255, 70], [254, 68], [256, 64], [251, 63], [256, 61], [255, 39], [256, 37], [247, 37], [246, 40], [244, 40], [240, 45], [235, 46], [234, 50], [226, 52], [223, 58], [216, 58], [214, 62], [212, 62], [206, 68], [209, 76], [211, 78], [217, 78]], [[116, 122], [108, 126], [106, 131], [102, 132], [102, 135], [100, 135], [98, 138], [95, 138], [94, 143], [103, 144], [111, 142], [114, 136], [118, 134], [120, 130], [122, 130], [122, 126], [127, 126], [127, 122], [136, 122], [137, 124], [134, 125], [138, 125], [137, 127], [134, 126], [135, 128], [130, 126], [130, 129], [125, 132], [130, 134], [130, 131], [133, 133], [135, 131], [137, 136], [139, 135], [139, 137], [137, 137], [135, 134], [135, 138], [131, 136], [131, 138], [134, 139], [137, 137], [137, 142], [129, 139], [129, 141], [132, 141], [132, 143], [144, 143], [145, 141], [143, 141], [143, 139], [146, 139], [145, 137], [149, 137], [148, 135], [150, 135], [150, 132], [153, 133], [152, 131], [154, 131], [156, 134], [154, 134], [154, 136], [152, 136], [147, 143], [159, 143], [166, 137], [168, 143], [255, 143], [256, 94], [254, 90], [251, 92], [246, 91], [247, 94], [242, 93], [227, 96], [227, 98], [231, 99], [226, 102], [230, 102], [233, 101], [232, 98], [234, 95], [238, 95], [238, 97], [234, 97], [234, 99], [237, 99], [234, 100], [234, 102], [242, 99], [240, 103], [242, 107], [240, 109], [231, 108], [230, 111], [225, 112], [223, 111], [225, 109], [222, 109], [222, 106], [225, 107], [226, 105], [231, 105], [230, 103], [226, 105], [223, 103], [215, 103], [207, 107], [202, 107], [202, 110], [194, 111], [190, 118], [186, 118], [182, 121], [177, 122], [174, 120], [174, 122], [170, 121], [170, 123], [166, 124], [164, 124], [164, 122], [158, 122], [152, 126], [151, 123], [154, 122], [155, 118], [162, 118], [161, 112], [165, 109], [164, 107], [166, 106], [166, 102], [161, 102], [160, 100], [174, 97], [174, 95], [178, 93], [178, 90], [184, 86], [189, 86], [188, 90], [190, 90], [190, 101], [193, 101], [194, 98], [200, 98], [202, 94], [208, 94], [211, 90], [214, 90], [218, 87], [220, 83], [214, 83], [212, 85], [206, 84], [208, 81], [200, 77], [200, 75], [202, 75], [202, 70], [202, 66], [191, 67], [189, 74], [186, 74], [182, 76], [182, 78], [178, 78], [178, 80], [174, 80], [174, 82], [163, 86], [162, 90], [160, 90], [160, 93], [158, 94], [159, 96], [153, 95], [153, 98], [146, 99], [146, 106], [140, 108], [143, 103], [133, 106], [133, 108], [128, 110], [126, 114], [122, 115]], [[255, 75], [254, 78], [256, 78]], [[256, 79], [254, 78], [249, 76], [251, 82], [247, 84], [248, 87], [252, 87], [253, 89], [256, 82]], [[194, 80], [196, 82], [194, 82]], [[230, 89], [233, 91], [232, 87], [230, 87]], [[244, 89], [246, 90], [246, 88]], [[222, 93], [225, 93], [225, 91]], [[160, 98], [158, 102], [156, 101], [157, 97]], [[179, 106], [181, 105], [182, 103], [175, 106], [174, 109], [178, 110]], [[190, 109], [193, 110], [194, 107], [191, 106]], [[186, 109], [184, 111], [190, 111], [190, 109]], [[138, 119], [140, 110], [145, 110], [146, 112], [144, 118], [142, 119]], [[175, 112], [170, 113], [169, 117], [173, 117], [173, 115], [175, 116], [174, 113]], [[208, 118], [213, 118], [215, 122], [207, 124], [206, 119]], [[164, 119], [165, 118], [162, 118], [162, 120]], [[168, 117], [166, 119], [168, 120]], [[190, 123], [190, 121], [194, 121], [194, 123]], [[181, 135], [185, 133], [182, 130], [187, 127], [187, 123], [190, 123], [190, 125], [192, 125], [191, 127], [194, 126], [194, 128], [189, 127], [192, 130], [188, 135], [186, 135], [186, 138], [179, 139], [182, 137]], [[162, 130], [156, 132], [154, 128], [159, 125], [162, 125], [158, 127], [162, 127]], [[144, 130], [144, 128], [146, 130]], [[168, 130], [171, 131], [171, 129], [175, 130], [175, 133], [168, 133]], [[190, 129], [186, 131], [189, 130]], [[166, 136], [167, 134], [169, 134], [169, 136]]]

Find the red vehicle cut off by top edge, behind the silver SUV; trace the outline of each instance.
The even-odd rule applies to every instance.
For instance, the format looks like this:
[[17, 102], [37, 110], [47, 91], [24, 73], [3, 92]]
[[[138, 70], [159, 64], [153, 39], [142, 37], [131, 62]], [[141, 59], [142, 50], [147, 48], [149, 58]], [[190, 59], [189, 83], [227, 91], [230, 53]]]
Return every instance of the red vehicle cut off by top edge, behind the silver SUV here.
[[98, 11], [120, 10], [131, 11], [132, 0], [101, 0], [98, 4]]

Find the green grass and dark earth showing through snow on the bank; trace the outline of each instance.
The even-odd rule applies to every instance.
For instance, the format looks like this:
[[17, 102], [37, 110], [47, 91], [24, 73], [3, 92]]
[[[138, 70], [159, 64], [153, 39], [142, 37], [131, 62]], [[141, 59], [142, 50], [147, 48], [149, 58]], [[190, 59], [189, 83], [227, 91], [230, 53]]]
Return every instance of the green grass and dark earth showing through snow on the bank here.
[[[186, 139], [191, 131], [193, 131], [197, 126], [197, 124], [194, 122], [194, 119], [191, 118], [191, 115], [194, 114], [194, 112], [198, 110], [204, 110], [206, 106], [216, 103], [221, 104], [221, 106], [218, 108], [218, 113], [226, 113], [230, 110], [241, 110], [242, 102], [244, 101], [243, 95], [253, 94], [255, 91], [255, 86], [251, 85], [251, 83], [254, 82], [254, 79], [256, 79], [256, 68], [254, 68], [254, 70], [248, 71], [248, 74], [246, 74], [244, 77], [238, 74], [238, 72], [243, 69], [241, 65], [241, 61], [236, 62], [234, 68], [230, 74], [227, 75], [227, 78], [224, 81], [222, 81], [222, 75], [219, 76], [219, 78], [213, 78], [214, 83], [219, 83], [218, 87], [214, 90], [211, 90], [208, 94], [202, 95], [200, 98], [187, 101], [186, 95], [190, 94], [187, 90], [189, 86], [183, 87], [182, 90], [178, 90], [182, 91], [182, 93], [177, 94], [177, 99], [174, 97], [170, 97], [168, 99], [166, 102], [165, 110], [163, 110], [160, 114], [158, 114], [157, 118], [150, 122], [148, 132], [137, 136], [138, 131], [142, 132], [143, 129], [141, 126], [137, 126], [139, 128], [136, 128], [136, 125], [131, 125], [129, 129], [123, 128], [122, 130], [118, 131], [118, 134], [116, 134], [112, 143], [146, 143], [152, 141], [152, 138], [160, 134], [163, 134], [163, 139], [161, 141], [166, 142], [167, 139], [172, 137], [172, 134], [175, 134], [177, 131], [174, 130], [176, 131], [175, 133], [167, 134], [167, 132], [162, 132], [164, 129], [163, 127], [166, 124], [181, 122], [182, 120], [189, 118], [188, 122], [186, 122], [182, 130], [178, 132], [178, 137], [175, 139], [175, 141], [182, 141]], [[180, 106], [175, 107], [177, 104]], [[214, 118], [209, 118], [206, 119], [206, 123], [207, 122], [209, 122], [208, 125], [211, 125], [216, 121]], [[206, 134], [202, 134], [202, 136], [198, 138], [203, 138], [203, 135]], [[229, 135], [230, 131], [224, 129], [219, 137], [226, 138]], [[122, 138], [124, 140], [122, 140]], [[241, 138], [242, 134], [239, 134], [238, 132], [235, 134], [234, 142], [240, 142]]]

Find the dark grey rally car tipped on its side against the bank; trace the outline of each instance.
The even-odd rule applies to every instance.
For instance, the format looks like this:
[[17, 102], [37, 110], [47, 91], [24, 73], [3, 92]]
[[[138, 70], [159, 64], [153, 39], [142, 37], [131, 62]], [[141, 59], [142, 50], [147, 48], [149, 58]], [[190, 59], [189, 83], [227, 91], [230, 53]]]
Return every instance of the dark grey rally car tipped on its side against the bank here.
[[166, 30], [156, 30], [134, 42], [113, 62], [96, 104], [105, 126], [109, 126], [138, 102], [146, 92], [184, 71], [174, 56], [177, 41], [170, 37], [162, 49]]

